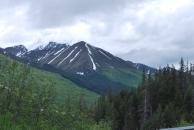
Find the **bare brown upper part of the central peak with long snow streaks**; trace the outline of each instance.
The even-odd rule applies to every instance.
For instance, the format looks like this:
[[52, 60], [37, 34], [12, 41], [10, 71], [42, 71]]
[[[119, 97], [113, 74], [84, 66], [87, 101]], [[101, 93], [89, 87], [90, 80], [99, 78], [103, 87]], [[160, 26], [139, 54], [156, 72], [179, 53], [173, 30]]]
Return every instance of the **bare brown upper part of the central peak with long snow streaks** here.
[[[45, 48], [43, 50], [46, 50]], [[46, 55], [38, 57], [36, 61], [74, 73], [98, 71], [104, 67], [132, 67], [124, 60], [83, 41], [59, 49], [48, 49]]]

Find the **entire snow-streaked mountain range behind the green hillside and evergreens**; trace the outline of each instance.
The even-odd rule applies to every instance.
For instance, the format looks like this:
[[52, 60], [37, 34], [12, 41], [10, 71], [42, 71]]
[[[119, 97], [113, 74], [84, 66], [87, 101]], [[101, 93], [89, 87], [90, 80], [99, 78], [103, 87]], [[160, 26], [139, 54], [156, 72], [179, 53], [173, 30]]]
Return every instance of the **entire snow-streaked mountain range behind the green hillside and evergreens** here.
[[46, 46], [28, 51], [18, 45], [0, 48], [0, 53], [60, 73], [75, 83], [98, 93], [109, 87], [113, 91], [131, 89], [141, 82], [142, 71], [154, 73], [156, 69], [144, 64], [125, 61], [84, 41], [73, 44], [49, 42]]

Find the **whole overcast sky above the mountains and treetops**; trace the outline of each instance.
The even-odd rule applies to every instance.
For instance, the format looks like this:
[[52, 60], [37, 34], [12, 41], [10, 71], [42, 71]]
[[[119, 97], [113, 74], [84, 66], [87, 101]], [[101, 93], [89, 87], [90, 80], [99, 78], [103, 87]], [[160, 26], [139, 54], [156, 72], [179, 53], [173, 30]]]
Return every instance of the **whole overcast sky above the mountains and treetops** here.
[[0, 47], [86, 41], [153, 67], [194, 61], [194, 0], [0, 0]]

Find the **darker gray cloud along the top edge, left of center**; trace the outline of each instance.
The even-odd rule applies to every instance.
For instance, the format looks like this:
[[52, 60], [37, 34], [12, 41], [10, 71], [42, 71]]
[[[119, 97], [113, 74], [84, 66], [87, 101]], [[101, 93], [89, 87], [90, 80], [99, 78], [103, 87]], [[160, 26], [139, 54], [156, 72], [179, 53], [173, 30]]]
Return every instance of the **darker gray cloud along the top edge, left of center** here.
[[30, 3], [29, 20], [40, 28], [59, 27], [119, 11], [126, 3], [127, 0], [34, 0]]

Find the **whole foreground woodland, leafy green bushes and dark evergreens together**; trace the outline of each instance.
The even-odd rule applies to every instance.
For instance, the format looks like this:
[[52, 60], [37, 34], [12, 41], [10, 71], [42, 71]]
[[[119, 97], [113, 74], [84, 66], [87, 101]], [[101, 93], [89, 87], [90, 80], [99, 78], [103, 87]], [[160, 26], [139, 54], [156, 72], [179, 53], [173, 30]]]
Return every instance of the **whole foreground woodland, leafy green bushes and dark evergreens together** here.
[[194, 65], [142, 73], [133, 90], [111, 88], [93, 104], [56, 102], [52, 81], [37, 82], [25, 64], [0, 60], [1, 130], [156, 130], [194, 122]]

